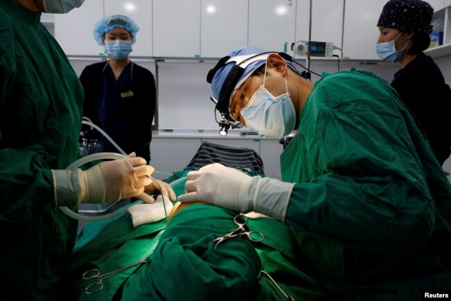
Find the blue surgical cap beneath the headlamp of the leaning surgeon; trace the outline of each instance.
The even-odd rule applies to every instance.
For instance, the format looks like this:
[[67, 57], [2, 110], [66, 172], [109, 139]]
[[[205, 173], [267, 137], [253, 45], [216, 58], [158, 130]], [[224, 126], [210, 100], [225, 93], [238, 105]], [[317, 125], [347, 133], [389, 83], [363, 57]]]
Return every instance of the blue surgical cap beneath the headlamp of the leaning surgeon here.
[[[268, 58], [268, 55], [271, 53], [278, 53], [277, 51], [266, 51], [264, 49], [259, 49], [255, 46], [244, 46], [237, 50], [232, 51], [229, 56], [230, 59], [228, 60], [228, 63], [224, 65], [224, 67], [218, 69], [216, 71], [216, 74], [214, 74], [214, 77], [212, 79], [212, 92], [213, 96], [216, 99], [219, 99], [219, 93], [221, 92], [221, 88], [223, 86], [224, 81], [226, 80], [230, 69], [235, 64], [239, 64], [241, 61], [246, 59], [246, 56], [241, 55], [247, 55], [247, 57], [251, 57], [253, 55], [257, 55], [259, 53], [262, 53], [262, 55], [258, 55], [255, 58], [251, 58], [250, 60], [246, 61], [241, 67], [244, 67], [244, 73], [239, 78], [237, 84], [235, 85], [235, 89], [239, 88], [239, 86], [244, 83], [246, 79], [249, 78], [250, 75], [253, 74], [255, 70], [258, 69], [258, 67], [262, 66], [264, 63], [266, 63], [266, 60]], [[246, 66], [247, 65], [247, 66]], [[293, 63], [287, 61], [287, 65], [293, 69], [297, 74], [300, 74], [300, 72], [294, 67]], [[230, 102], [230, 100], [229, 100]]]

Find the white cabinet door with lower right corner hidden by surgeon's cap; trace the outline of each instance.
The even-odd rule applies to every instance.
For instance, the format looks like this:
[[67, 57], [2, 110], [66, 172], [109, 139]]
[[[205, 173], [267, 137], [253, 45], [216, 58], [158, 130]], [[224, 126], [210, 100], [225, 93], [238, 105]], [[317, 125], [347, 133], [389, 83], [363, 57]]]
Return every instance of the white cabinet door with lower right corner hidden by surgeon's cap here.
[[247, 44], [248, 1], [201, 0], [203, 58], [222, 58]]

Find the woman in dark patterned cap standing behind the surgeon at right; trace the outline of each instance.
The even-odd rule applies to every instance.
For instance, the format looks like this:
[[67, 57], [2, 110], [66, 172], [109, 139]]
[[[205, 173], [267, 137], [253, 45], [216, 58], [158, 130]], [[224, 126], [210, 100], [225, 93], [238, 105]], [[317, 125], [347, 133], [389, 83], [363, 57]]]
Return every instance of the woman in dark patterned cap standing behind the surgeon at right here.
[[380, 36], [376, 51], [382, 60], [399, 62], [401, 69], [391, 85], [414, 114], [443, 165], [451, 153], [451, 89], [434, 60], [423, 53], [430, 44], [433, 14], [434, 8], [425, 1], [387, 2], [377, 22]]

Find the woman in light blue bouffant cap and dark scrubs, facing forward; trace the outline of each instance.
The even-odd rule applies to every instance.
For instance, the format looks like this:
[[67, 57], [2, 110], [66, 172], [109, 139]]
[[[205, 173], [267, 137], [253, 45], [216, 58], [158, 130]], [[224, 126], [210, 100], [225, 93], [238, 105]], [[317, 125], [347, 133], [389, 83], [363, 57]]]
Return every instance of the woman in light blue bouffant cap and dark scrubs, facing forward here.
[[[85, 67], [80, 81], [85, 89], [83, 116], [100, 126], [126, 152], [151, 160], [152, 121], [156, 90], [153, 74], [128, 55], [139, 27], [124, 15], [104, 17], [94, 26], [94, 39], [105, 46], [109, 59]], [[108, 139], [103, 151], [117, 153]]]

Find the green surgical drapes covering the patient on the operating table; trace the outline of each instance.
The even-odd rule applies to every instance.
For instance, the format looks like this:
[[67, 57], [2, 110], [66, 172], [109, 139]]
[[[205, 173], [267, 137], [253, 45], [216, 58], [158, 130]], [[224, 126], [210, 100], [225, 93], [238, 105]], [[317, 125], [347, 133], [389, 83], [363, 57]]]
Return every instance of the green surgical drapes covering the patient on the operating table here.
[[[189, 170], [167, 182], [184, 193]], [[290, 227], [270, 218], [248, 219], [250, 230], [264, 234], [261, 243], [231, 239], [213, 250], [212, 239], [235, 229], [230, 212], [212, 205], [192, 205], [166, 222], [133, 228], [130, 216], [88, 223], [76, 243], [67, 295], [73, 300], [287, 300], [260, 269], [296, 300], [323, 300], [325, 288], [310, 275], [312, 267], [297, 246]], [[159, 242], [158, 242], [159, 241]], [[154, 252], [155, 244], [158, 247]], [[148, 248], [148, 249], [146, 249]], [[150, 262], [105, 279], [105, 288], [85, 294], [90, 268], [108, 273], [150, 255]]]

